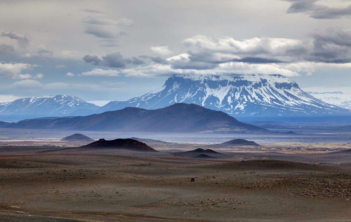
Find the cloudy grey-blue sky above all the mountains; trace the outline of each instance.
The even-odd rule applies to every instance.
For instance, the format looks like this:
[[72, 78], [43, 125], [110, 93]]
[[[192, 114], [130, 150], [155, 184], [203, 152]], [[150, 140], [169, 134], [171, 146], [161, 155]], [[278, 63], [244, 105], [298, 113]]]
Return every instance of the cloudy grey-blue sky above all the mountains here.
[[350, 0], [2, 0], [0, 102], [104, 105], [173, 74], [282, 74], [351, 92]]

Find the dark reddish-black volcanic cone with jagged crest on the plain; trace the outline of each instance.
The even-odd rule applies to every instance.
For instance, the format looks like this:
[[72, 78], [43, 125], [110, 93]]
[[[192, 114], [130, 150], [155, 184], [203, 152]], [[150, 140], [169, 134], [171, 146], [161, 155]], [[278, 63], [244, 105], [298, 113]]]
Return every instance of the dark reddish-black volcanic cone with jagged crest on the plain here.
[[99, 139], [98, 141], [95, 141], [88, 145], [81, 146], [81, 148], [117, 148], [133, 151], [158, 152], [145, 143], [136, 141], [135, 139]]

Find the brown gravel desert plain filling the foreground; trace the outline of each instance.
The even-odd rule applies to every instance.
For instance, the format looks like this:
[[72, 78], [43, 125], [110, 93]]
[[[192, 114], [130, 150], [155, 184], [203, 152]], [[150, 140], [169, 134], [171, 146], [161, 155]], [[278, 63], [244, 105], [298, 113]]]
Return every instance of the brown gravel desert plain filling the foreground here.
[[40, 143], [1, 142], [0, 221], [351, 220], [348, 143]]

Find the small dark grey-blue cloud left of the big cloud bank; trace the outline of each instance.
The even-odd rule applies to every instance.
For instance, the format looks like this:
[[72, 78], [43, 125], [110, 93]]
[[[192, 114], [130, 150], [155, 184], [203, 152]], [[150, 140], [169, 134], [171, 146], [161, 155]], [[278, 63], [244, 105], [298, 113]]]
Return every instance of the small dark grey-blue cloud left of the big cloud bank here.
[[120, 52], [106, 54], [102, 56], [101, 59], [97, 57], [97, 55], [85, 55], [83, 60], [95, 66], [106, 66], [112, 68], [124, 68], [128, 64], [140, 65], [145, 63], [143, 60], [137, 57], [124, 58]]

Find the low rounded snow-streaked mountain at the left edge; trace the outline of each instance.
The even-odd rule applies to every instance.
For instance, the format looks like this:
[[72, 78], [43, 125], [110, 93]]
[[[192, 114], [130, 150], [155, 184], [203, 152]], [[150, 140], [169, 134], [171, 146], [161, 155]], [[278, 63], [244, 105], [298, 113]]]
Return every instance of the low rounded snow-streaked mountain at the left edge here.
[[99, 107], [74, 96], [33, 96], [0, 104], [0, 115], [62, 116], [76, 110], [97, 110]]

